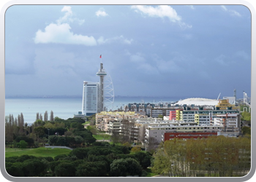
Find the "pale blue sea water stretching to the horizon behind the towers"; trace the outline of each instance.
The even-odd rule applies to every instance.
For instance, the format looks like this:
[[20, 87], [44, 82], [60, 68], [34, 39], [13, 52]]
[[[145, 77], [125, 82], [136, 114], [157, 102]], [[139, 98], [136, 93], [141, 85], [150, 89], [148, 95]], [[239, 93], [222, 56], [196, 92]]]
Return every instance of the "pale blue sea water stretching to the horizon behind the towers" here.
[[[158, 103], [173, 102], [175, 98], [159, 98], [159, 97], [116, 97], [113, 104], [108, 106], [108, 111], [117, 110], [126, 106], [128, 103]], [[82, 109], [82, 98], [6, 98], [5, 99], [5, 116], [12, 114], [14, 118], [18, 118], [18, 114], [22, 113], [24, 122], [29, 125], [35, 122], [37, 113], [42, 114], [44, 118], [45, 111], [48, 111], [48, 119], [50, 119], [50, 111], [53, 116], [61, 119], [69, 119], [78, 114]]]

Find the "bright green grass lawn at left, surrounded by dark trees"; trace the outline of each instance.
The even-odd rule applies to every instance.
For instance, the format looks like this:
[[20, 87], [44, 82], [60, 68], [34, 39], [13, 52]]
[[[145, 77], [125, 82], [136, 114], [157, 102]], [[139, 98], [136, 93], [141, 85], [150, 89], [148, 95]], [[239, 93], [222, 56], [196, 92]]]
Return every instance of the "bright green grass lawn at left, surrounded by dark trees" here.
[[5, 157], [31, 155], [35, 157], [56, 157], [60, 154], [69, 154], [69, 149], [51, 149], [39, 147], [37, 149], [5, 149]]

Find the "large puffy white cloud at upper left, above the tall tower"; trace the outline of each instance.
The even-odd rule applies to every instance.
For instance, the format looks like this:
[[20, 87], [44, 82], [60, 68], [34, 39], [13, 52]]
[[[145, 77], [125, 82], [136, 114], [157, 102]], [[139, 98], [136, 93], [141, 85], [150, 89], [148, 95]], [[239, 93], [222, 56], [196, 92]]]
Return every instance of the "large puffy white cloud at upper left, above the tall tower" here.
[[37, 31], [34, 42], [38, 43], [60, 43], [60, 44], [83, 44], [86, 46], [97, 45], [93, 36], [83, 36], [70, 31], [67, 23], [56, 25], [51, 23], [45, 27], [45, 31]]

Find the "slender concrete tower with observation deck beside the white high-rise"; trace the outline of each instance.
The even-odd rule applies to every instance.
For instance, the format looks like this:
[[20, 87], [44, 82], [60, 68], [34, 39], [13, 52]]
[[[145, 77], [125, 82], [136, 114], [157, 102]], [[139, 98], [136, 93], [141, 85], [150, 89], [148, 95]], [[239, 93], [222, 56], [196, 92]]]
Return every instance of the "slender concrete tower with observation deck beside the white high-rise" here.
[[103, 69], [103, 63], [100, 63], [99, 71], [97, 72], [97, 76], [99, 76], [98, 112], [104, 109], [104, 76], [106, 75], [107, 73]]

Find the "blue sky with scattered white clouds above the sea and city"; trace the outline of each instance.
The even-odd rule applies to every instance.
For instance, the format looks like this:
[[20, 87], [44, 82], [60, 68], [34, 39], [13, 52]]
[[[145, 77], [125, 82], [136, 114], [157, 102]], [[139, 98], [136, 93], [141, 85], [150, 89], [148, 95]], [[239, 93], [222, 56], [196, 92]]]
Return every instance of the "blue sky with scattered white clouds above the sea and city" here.
[[[251, 95], [251, 13], [243, 5], [13, 5], [5, 13], [5, 95]], [[102, 55], [102, 58], [99, 56]]]

